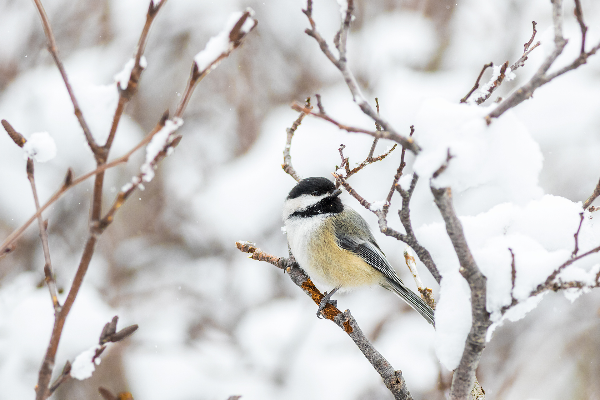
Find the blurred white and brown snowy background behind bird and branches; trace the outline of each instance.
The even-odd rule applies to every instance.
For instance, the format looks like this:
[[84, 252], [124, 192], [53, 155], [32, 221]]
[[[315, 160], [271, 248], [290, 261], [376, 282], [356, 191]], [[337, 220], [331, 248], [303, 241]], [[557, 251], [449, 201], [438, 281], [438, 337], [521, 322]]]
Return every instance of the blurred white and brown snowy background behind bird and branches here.
[[[600, 38], [600, 3], [582, 1], [590, 27], [588, 48]], [[92, 378], [71, 380], [56, 398], [100, 398], [98, 386], [130, 390], [136, 398], [371, 399], [391, 398], [379, 375], [335, 324], [318, 320], [316, 305], [280, 270], [248, 260], [236, 240], [286, 255], [280, 209], [295, 184], [281, 170], [289, 108], [319, 92], [329, 115], [373, 129], [340, 74], [304, 34], [308, 22], [295, 1], [172, 1], [160, 11], [146, 47], [148, 68], [121, 119], [111, 157], [134, 146], [164, 110], [174, 110], [191, 59], [217, 34], [233, 11], [253, 7], [259, 25], [196, 89], [179, 131], [184, 139], [161, 163], [156, 178], [137, 191], [100, 239], [82, 290], [65, 324], [55, 374], [65, 361], [94, 345], [105, 323], [138, 332], [105, 351]], [[83, 114], [98, 140], [106, 140], [118, 100], [113, 76], [131, 57], [148, 2], [52, 1], [45, 7]], [[569, 44], [556, 68], [578, 55], [580, 31], [565, 4]], [[314, 11], [329, 43], [340, 22], [334, 1]], [[483, 64], [512, 64], [538, 25], [526, 65], [481, 107], [458, 105]], [[37, 163], [41, 200], [64, 178], [94, 168], [73, 106], [45, 49], [34, 5], [0, 2], [0, 118], [29, 138], [47, 131], [56, 157]], [[526, 82], [553, 48], [547, 1], [360, 1], [349, 35], [349, 65], [365, 96], [400, 133], [415, 125], [424, 148], [407, 154], [405, 173], [422, 179], [412, 199], [418, 239], [445, 278], [440, 287], [422, 264], [439, 308], [437, 332], [394, 294], [365, 288], [337, 296], [394, 368], [415, 398], [443, 398], [464, 329], [470, 324], [466, 282], [445, 235], [427, 176], [455, 155], [434, 184], [453, 188], [473, 255], [488, 276], [488, 309], [509, 304], [508, 248], [515, 252], [514, 295], [525, 299], [570, 257], [581, 202], [600, 176], [600, 57], [542, 86], [528, 100], [486, 127], [482, 116], [497, 96]], [[490, 79], [488, 70], [482, 83]], [[305, 118], [292, 144], [292, 162], [303, 177], [329, 176], [340, 164], [364, 160], [367, 136], [347, 134]], [[391, 143], [380, 141], [377, 153]], [[110, 170], [104, 204], [143, 162]], [[350, 183], [369, 201], [384, 199], [400, 151], [368, 166]], [[35, 209], [23, 151], [0, 134], [0, 237]], [[70, 190], [44, 213], [59, 288], [68, 291], [86, 238], [92, 181]], [[368, 222], [376, 217], [341, 195]], [[594, 205], [599, 206], [596, 200]], [[392, 211], [400, 205], [392, 201]], [[395, 208], [394, 208], [395, 207]], [[392, 227], [401, 229], [395, 212]], [[600, 242], [600, 216], [586, 213], [580, 251]], [[16, 251], [0, 261], [1, 399], [32, 398], [37, 371], [52, 330], [53, 310], [43, 287], [43, 252], [32, 224]], [[376, 233], [385, 254], [410, 287], [403, 243]], [[573, 264], [565, 279], [587, 279], [599, 257]], [[462, 279], [462, 280], [461, 280]], [[467, 292], [468, 293], [468, 287]], [[478, 369], [490, 398], [600, 397], [600, 292], [548, 293], [518, 321], [496, 327]], [[568, 297], [568, 298], [566, 298]], [[572, 301], [571, 301], [572, 300]], [[532, 308], [535, 304], [529, 304]], [[496, 314], [494, 314], [496, 311]], [[524, 315], [517, 310], [512, 319]], [[517, 315], [518, 314], [518, 315]], [[506, 315], [506, 317], [511, 317]], [[509, 318], [511, 319], [511, 318]], [[457, 322], [458, 321], [458, 322]], [[440, 361], [442, 363], [440, 363]], [[341, 382], [343, 384], [332, 384]]]

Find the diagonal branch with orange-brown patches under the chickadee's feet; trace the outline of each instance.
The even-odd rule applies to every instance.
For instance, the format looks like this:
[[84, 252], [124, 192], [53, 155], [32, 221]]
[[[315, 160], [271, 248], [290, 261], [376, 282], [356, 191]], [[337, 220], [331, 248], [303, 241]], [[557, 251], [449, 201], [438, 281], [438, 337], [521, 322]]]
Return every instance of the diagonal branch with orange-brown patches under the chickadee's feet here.
[[[290, 276], [290, 279], [313, 301], [319, 305], [324, 295], [315, 287], [313, 282], [308, 278], [304, 270], [298, 266], [298, 263], [290, 255], [290, 258], [276, 257], [275, 255], [268, 254], [262, 251], [251, 242], [236, 242], [238, 249], [242, 252], [250, 253], [250, 258], [253, 260], [266, 261], [273, 264], [274, 266], [283, 269], [284, 272]], [[373, 368], [379, 373], [383, 379], [383, 383], [388, 387], [395, 399], [406, 399], [411, 400], [412, 396], [406, 387], [406, 382], [402, 376], [402, 371], [395, 371], [373, 344], [365, 337], [364, 333], [356, 323], [352, 314], [349, 310], [341, 312], [333, 305], [327, 303], [322, 313], [323, 317], [328, 320], [334, 321], [341, 329], [346, 332], [356, 346], [362, 351], [367, 360], [373, 365]]]

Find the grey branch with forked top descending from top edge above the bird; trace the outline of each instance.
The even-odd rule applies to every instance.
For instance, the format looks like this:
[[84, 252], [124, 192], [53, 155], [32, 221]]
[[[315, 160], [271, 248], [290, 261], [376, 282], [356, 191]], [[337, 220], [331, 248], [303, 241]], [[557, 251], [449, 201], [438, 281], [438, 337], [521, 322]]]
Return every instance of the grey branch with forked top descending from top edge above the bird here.
[[[377, 124], [379, 124], [383, 128], [383, 131], [385, 131], [386, 134], [383, 134], [383, 131], [382, 131], [382, 134], [372, 133], [371, 131], [366, 131], [366, 130], [354, 130], [353, 132], [362, 132], [362, 133], [370, 134], [371, 136], [376, 137], [376, 138], [383, 137], [385, 139], [395, 140], [396, 142], [400, 143], [402, 146], [406, 147], [413, 153], [417, 154], [421, 150], [421, 148], [419, 148], [419, 146], [412, 139], [406, 138], [406, 137], [401, 136], [400, 134], [396, 133], [396, 131], [394, 131], [394, 129], [391, 127], [391, 125], [389, 125], [388, 122], [386, 122], [379, 115], [377, 115], [377, 113], [371, 108], [371, 106], [367, 103], [367, 100], [365, 99], [364, 95], [362, 95], [362, 91], [358, 87], [358, 83], [356, 82], [356, 79], [355, 79], [354, 75], [352, 74], [352, 71], [350, 71], [350, 68], [347, 67], [346, 38], [348, 35], [348, 29], [350, 28], [350, 22], [352, 21], [352, 11], [354, 10], [354, 3], [352, 0], [348, 0], [347, 4], [348, 5], [347, 5], [346, 16], [342, 22], [340, 31], [338, 31], [338, 33], [335, 35], [335, 40], [334, 40], [335, 45], [340, 53], [339, 59], [335, 58], [335, 56], [333, 55], [331, 50], [329, 50], [329, 46], [326, 43], [325, 39], [323, 39], [323, 37], [317, 31], [316, 24], [314, 23], [314, 20], [313, 20], [313, 1], [312, 0], [308, 0], [307, 1], [307, 9], [302, 10], [302, 12], [307, 16], [308, 22], [310, 22], [310, 26], [311, 26], [310, 29], [306, 29], [304, 32], [306, 32], [306, 34], [309, 35], [310, 37], [313, 37], [317, 41], [317, 43], [319, 43], [319, 47], [321, 48], [321, 51], [323, 52], [323, 54], [325, 54], [325, 56], [327, 56], [329, 61], [331, 61], [332, 64], [334, 64], [335, 67], [337, 67], [338, 70], [340, 70], [342, 76], [344, 77], [344, 80], [346, 81], [346, 85], [348, 86], [348, 88], [350, 89], [350, 92], [352, 93], [352, 97], [353, 97], [355, 103], [358, 104], [359, 107], [361, 107], [362, 112], [364, 112], [366, 115], [370, 116], [373, 119], [373, 121], [377, 122]], [[313, 114], [313, 115], [315, 115], [315, 114]], [[316, 115], [316, 116], [319, 116], [319, 115]], [[332, 122], [332, 121], [330, 121], [330, 122]], [[337, 124], [337, 125], [340, 126], [339, 124]]]

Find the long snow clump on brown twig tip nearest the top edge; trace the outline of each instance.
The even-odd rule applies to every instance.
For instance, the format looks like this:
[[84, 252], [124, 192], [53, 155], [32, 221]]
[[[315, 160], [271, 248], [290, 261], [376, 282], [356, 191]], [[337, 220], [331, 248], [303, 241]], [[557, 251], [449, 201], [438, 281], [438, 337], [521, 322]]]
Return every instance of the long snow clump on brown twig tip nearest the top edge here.
[[[250, 16], [244, 21], [244, 24], [239, 29], [244, 34], [250, 32], [250, 29], [254, 28], [254, 20], [251, 18], [254, 16], [254, 10], [248, 7], [246, 11], [250, 13]], [[236, 11], [230, 14], [227, 22], [223, 26], [223, 30], [218, 35], [211, 37], [206, 43], [206, 47], [201, 52], [194, 56], [194, 61], [198, 66], [199, 71], [204, 71], [206, 68], [211, 67], [214, 69], [217, 67], [218, 62], [215, 62], [222, 54], [227, 54], [233, 50], [233, 43], [229, 41], [229, 34], [235, 24], [244, 15], [242, 11]], [[212, 65], [211, 65], [212, 64]]]

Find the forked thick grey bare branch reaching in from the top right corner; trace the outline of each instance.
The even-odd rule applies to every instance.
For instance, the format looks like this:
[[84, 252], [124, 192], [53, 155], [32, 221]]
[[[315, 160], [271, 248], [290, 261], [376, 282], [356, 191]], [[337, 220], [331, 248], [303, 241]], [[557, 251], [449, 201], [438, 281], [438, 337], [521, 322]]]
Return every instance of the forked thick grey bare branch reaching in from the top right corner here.
[[569, 65], [566, 67], [560, 68], [560, 70], [555, 71], [554, 73], [547, 74], [548, 69], [550, 69], [553, 62], [558, 58], [558, 56], [562, 53], [565, 48], [568, 40], [563, 38], [562, 35], [562, 23], [563, 23], [563, 14], [562, 14], [562, 0], [552, 0], [552, 8], [553, 8], [553, 23], [554, 23], [554, 50], [553, 52], [545, 59], [542, 63], [541, 67], [539, 67], [538, 71], [533, 75], [533, 77], [527, 82], [525, 85], [518, 88], [515, 92], [513, 92], [508, 98], [502, 101], [496, 109], [493, 110], [490, 114], [485, 117], [485, 120], [488, 124], [491, 123], [492, 118], [498, 118], [502, 115], [506, 110], [511, 109], [512, 107], [517, 106], [522, 103], [524, 100], [532, 97], [535, 89], [539, 88], [539, 86], [545, 85], [545, 83], [550, 82], [557, 76], [560, 76], [568, 71], [574, 70], [582, 64], [586, 64], [587, 58], [589, 56], [594, 55], [598, 49], [600, 49], [600, 43], [593, 47], [589, 52], [584, 51], [584, 41], [586, 37], [587, 28], [583, 23], [583, 16], [581, 14], [581, 5], [575, 4], [575, 16], [577, 16], [577, 20], [581, 26], [581, 53], [580, 55]]

